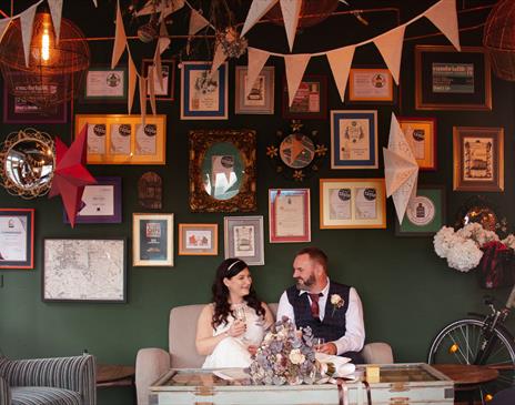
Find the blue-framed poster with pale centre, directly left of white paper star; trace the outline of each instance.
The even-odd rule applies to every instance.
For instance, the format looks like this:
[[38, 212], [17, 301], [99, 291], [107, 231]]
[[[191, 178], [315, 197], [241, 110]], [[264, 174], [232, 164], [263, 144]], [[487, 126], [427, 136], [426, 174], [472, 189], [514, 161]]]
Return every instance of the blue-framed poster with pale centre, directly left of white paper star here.
[[331, 169], [377, 169], [377, 111], [331, 111]]

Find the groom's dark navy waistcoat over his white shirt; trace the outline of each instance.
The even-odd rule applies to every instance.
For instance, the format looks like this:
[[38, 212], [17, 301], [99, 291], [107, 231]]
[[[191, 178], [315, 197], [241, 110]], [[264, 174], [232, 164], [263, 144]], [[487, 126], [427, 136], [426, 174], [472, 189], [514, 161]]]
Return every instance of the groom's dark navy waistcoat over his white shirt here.
[[[349, 285], [331, 282], [325, 308], [320, 308], [321, 312], [324, 311], [324, 321], [321, 322], [320, 318], [313, 317], [311, 314], [307, 293], [299, 294], [299, 290], [294, 285], [287, 288], [286, 295], [293, 306], [296, 327], [310, 326], [314, 336], [323, 337], [326, 342], [337, 341], [346, 331], [345, 313], [349, 307], [350, 291]], [[333, 294], [339, 294], [344, 300], [343, 306], [335, 308], [334, 312], [333, 304], [331, 304], [331, 295]]]

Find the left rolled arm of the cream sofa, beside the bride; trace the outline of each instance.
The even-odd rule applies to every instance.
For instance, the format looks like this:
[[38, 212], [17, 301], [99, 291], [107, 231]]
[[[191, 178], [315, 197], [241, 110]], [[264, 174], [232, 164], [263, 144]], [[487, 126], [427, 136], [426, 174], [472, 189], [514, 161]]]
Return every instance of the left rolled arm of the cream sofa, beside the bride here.
[[149, 404], [149, 386], [171, 368], [170, 353], [162, 348], [141, 348], [135, 357], [138, 405]]

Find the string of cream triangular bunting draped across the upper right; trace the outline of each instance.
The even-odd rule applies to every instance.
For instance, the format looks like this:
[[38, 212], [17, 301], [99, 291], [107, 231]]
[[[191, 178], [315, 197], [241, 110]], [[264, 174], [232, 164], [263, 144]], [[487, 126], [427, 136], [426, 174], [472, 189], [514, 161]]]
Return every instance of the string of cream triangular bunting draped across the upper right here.
[[[244, 36], [252, 26], [259, 21], [269, 10], [280, 0], [253, 0], [251, 8], [249, 10], [245, 24], [241, 32], [241, 36]], [[293, 7], [293, 6], [292, 6]], [[430, 7], [420, 16], [411, 19], [410, 21], [395, 27], [394, 29], [384, 32], [372, 39], [362, 41], [360, 43], [350, 44], [343, 48], [329, 50], [324, 52], [315, 53], [305, 53], [305, 54], [284, 54], [277, 52], [269, 52], [262, 49], [252, 48], [253, 54], [260, 54], [260, 58], [251, 58], [251, 47], [249, 47], [249, 72], [256, 72], [255, 77], [260, 73], [261, 69], [258, 70], [258, 64], [261, 64], [263, 60], [266, 60], [271, 55], [283, 58], [286, 64], [286, 81], [287, 89], [290, 94], [290, 103], [292, 102], [293, 95], [296, 93], [299, 84], [301, 83], [304, 70], [307, 63], [296, 64], [291, 63], [292, 61], [304, 62], [314, 57], [326, 57], [331, 69], [333, 72], [334, 80], [337, 84], [340, 97], [344, 98], [345, 87], [349, 79], [350, 65], [352, 64], [352, 58], [354, 55], [354, 50], [357, 47], [365, 45], [367, 43], [374, 43], [383, 57], [388, 70], [392, 75], [395, 78], [395, 81], [398, 83], [400, 73], [401, 73], [401, 57], [402, 49], [404, 43], [404, 31], [407, 26], [422, 19], [427, 18], [433, 24], [441, 30], [441, 32], [451, 41], [451, 43], [461, 50], [460, 48], [460, 30], [457, 23], [457, 12], [456, 12], [456, 0], [440, 0], [437, 3]], [[343, 59], [340, 57], [343, 55]], [[294, 57], [294, 58], [293, 58]], [[256, 64], [256, 65], [252, 65]], [[264, 63], [263, 63], [264, 64]], [[294, 69], [294, 72], [290, 72], [290, 68]], [[301, 78], [301, 80], [299, 80]], [[251, 79], [250, 75], [248, 78]]]

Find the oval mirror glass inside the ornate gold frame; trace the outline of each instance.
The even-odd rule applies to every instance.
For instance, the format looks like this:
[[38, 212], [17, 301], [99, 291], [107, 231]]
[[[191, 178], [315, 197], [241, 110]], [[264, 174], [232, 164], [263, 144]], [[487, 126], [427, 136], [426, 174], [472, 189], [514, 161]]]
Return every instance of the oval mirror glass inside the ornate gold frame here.
[[205, 152], [202, 162], [205, 192], [215, 200], [229, 200], [238, 195], [245, 174], [244, 168], [240, 151], [233, 143], [214, 143]]

